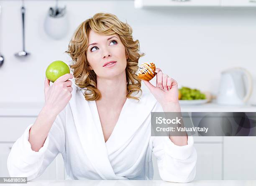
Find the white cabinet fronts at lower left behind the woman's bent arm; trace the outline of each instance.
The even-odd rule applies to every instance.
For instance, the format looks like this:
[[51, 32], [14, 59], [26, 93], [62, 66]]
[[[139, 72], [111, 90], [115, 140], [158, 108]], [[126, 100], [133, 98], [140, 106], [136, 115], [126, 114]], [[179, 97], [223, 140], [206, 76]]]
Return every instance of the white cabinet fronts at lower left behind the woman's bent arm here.
[[[34, 123], [36, 117], [1, 117], [0, 116], [0, 176], [9, 177], [7, 158], [13, 143], [23, 134], [28, 125]], [[35, 180], [64, 180], [64, 162], [61, 154]]]

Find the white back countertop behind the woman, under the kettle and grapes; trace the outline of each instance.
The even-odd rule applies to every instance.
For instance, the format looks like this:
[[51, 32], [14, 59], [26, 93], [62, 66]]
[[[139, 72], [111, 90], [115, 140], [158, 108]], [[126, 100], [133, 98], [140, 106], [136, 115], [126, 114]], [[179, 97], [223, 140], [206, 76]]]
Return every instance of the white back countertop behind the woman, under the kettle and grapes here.
[[[44, 103], [19, 102], [0, 103], [0, 116], [37, 116]], [[182, 112], [256, 112], [256, 106], [249, 104], [242, 106], [219, 105], [214, 102], [198, 105], [181, 105]]]

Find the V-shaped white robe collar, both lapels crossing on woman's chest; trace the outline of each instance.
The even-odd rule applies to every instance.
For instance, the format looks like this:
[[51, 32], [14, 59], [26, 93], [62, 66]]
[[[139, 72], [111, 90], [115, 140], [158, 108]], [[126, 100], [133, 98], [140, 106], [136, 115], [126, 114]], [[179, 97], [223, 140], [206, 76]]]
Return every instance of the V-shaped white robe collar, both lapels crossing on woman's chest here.
[[[156, 104], [156, 99], [150, 93], [142, 94], [140, 102], [135, 99], [127, 99], [118, 118], [110, 138], [105, 143], [100, 118], [95, 101], [87, 101], [84, 98], [84, 89], [72, 85], [72, 98], [69, 101], [74, 123], [82, 144], [92, 166], [102, 179], [127, 179], [115, 175], [108, 159], [108, 154], [118, 150], [136, 132]], [[90, 106], [92, 106], [92, 111]], [[94, 112], [94, 113], [92, 113]], [[96, 121], [92, 115], [96, 115]]]

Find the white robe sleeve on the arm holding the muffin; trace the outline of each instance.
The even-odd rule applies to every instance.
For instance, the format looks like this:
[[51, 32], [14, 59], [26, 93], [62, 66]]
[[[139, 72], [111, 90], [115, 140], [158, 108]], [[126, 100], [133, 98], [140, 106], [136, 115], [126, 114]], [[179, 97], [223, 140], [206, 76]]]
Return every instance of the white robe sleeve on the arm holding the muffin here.
[[[163, 112], [161, 105], [157, 103], [152, 112]], [[192, 136], [184, 146], [175, 145], [169, 136], [151, 136], [150, 143], [162, 180], [188, 183], [195, 178], [197, 152]]]

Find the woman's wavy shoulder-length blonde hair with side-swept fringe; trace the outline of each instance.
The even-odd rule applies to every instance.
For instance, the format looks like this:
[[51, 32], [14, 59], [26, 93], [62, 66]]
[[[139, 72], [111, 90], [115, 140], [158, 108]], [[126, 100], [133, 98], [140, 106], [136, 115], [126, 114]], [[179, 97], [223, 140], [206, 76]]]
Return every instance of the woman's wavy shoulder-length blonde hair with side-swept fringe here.
[[[97, 75], [89, 69], [89, 62], [86, 57], [90, 30], [105, 36], [118, 34], [125, 46], [125, 54], [128, 56], [125, 69], [126, 97], [139, 101], [142, 94], [141, 80], [135, 73], [138, 70], [138, 59], [145, 54], [139, 52], [139, 41], [133, 41], [131, 26], [121, 22], [116, 15], [111, 13], [96, 13], [92, 18], [82, 22], [74, 32], [68, 50], [65, 51], [74, 62], [69, 66], [73, 71], [75, 84], [88, 90], [84, 91], [85, 99], [92, 101], [101, 98], [100, 91], [97, 89]], [[133, 93], [140, 93], [140, 95], [138, 97], [132, 96]]]

